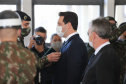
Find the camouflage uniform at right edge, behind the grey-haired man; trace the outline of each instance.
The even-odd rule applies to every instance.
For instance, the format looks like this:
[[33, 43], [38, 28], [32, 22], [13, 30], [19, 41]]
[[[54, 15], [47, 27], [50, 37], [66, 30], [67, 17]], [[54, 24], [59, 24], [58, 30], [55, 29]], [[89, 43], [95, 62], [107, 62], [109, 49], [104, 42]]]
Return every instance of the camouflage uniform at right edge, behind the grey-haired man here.
[[123, 83], [124, 74], [126, 71], [126, 40], [118, 40], [118, 37], [126, 31], [126, 25], [121, 26], [120, 28], [115, 29], [110, 37], [110, 42], [120, 56], [120, 64], [121, 64], [121, 74], [120, 74], [120, 84]]

